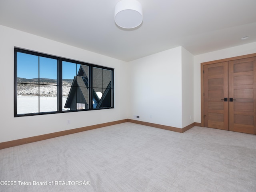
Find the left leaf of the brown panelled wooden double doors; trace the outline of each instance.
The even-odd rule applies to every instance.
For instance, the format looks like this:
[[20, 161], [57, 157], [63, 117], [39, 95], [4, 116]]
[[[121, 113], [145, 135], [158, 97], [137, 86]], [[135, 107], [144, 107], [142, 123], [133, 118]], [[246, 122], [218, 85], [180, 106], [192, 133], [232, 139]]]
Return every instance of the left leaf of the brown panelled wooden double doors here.
[[228, 130], [228, 62], [204, 66], [204, 126]]

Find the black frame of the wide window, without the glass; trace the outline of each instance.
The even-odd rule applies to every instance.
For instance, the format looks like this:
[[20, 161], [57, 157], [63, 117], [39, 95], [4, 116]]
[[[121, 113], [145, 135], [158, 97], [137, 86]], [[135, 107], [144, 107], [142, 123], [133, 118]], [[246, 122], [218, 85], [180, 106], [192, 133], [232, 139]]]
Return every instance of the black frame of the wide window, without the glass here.
[[[46, 58], [52, 58], [57, 60], [57, 111], [53, 112], [35, 112], [35, 113], [26, 113], [26, 114], [17, 114], [17, 53], [25, 53], [25, 54], [30, 54], [30, 55], [35, 55], [38, 57], [46, 57]], [[71, 62], [74, 64], [79, 64], [79, 65], [85, 65], [89, 67], [89, 87], [88, 87], [88, 92], [89, 92], [89, 104], [87, 109], [76, 109], [76, 110], [63, 110], [62, 106], [62, 62]], [[101, 107], [101, 108], [93, 108], [93, 68], [101, 68], [105, 70], [110, 70], [111, 71], [111, 101], [110, 101], [110, 106], [108, 107]], [[38, 69], [39, 71], [40, 69]], [[40, 84], [38, 84], [40, 85]], [[38, 95], [38, 98], [40, 98], [40, 95]], [[39, 106], [38, 106], [39, 107]], [[78, 112], [78, 111], [90, 111], [90, 110], [101, 110], [101, 109], [110, 109], [114, 108], [114, 68], [109, 68], [106, 66], [100, 66], [96, 64], [91, 64], [88, 62], [82, 62], [78, 60], [72, 60], [68, 58], [63, 58], [59, 56], [53, 56], [50, 54], [45, 54], [45, 53], [40, 53], [40, 52], [35, 52], [31, 50], [26, 50], [23, 48], [16, 48], [14, 47], [14, 117], [20, 117], [20, 116], [34, 116], [34, 115], [44, 115], [44, 114], [58, 114], [58, 113], [67, 113], [67, 112]]]

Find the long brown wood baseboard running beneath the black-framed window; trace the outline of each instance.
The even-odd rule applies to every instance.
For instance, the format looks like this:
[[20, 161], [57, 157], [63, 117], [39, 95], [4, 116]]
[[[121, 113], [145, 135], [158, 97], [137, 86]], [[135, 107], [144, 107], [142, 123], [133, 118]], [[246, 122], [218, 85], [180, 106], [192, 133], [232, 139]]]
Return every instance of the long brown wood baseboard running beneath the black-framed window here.
[[32, 142], [41, 141], [41, 140], [46, 140], [46, 139], [64, 136], [64, 135], [68, 135], [68, 134], [78, 133], [78, 132], [82, 132], [82, 131], [97, 129], [97, 128], [106, 127], [106, 126], [110, 126], [110, 125], [120, 124], [120, 123], [124, 123], [124, 122], [128, 122], [128, 119], [113, 121], [113, 122], [108, 122], [108, 123], [102, 123], [102, 124], [97, 124], [97, 125], [92, 125], [92, 126], [86, 126], [86, 127], [76, 128], [76, 129], [70, 129], [70, 130], [65, 130], [65, 131], [60, 131], [60, 132], [54, 132], [54, 133], [49, 133], [49, 134], [44, 134], [44, 135], [38, 135], [38, 136], [34, 136], [34, 137], [22, 138], [22, 139], [18, 139], [18, 140], [2, 142], [2, 143], [0, 143], [0, 149], [14, 147], [14, 146], [23, 145], [23, 144], [32, 143]]

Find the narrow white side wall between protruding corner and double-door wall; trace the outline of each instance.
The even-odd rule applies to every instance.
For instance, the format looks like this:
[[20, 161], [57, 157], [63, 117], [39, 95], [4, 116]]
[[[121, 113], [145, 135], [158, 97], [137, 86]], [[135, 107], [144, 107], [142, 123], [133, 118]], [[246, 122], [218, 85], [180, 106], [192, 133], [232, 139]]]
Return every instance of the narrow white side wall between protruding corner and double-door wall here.
[[182, 128], [194, 123], [194, 56], [182, 47]]

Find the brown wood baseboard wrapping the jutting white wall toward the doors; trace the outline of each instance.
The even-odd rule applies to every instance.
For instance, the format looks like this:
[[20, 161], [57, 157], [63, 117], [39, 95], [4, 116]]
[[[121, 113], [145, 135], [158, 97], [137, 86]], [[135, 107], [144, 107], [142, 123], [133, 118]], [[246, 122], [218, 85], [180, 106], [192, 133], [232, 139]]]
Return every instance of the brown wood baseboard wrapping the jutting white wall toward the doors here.
[[128, 119], [128, 122], [146, 125], [146, 126], [155, 127], [155, 128], [160, 128], [160, 129], [165, 129], [165, 130], [169, 130], [169, 131], [175, 131], [175, 132], [179, 132], [179, 133], [184, 133], [185, 131], [187, 131], [190, 128], [195, 126], [195, 123], [192, 123], [184, 128], [177, 128], [177, 127], [171, 127], [171, 126], [160, 125], [160, 124], [155, 124], [155, 123], [148, 123], [148, 122], [143, 122], [143, 121], [138, 121], [138, 120], [133, 120], [133, 119]]

